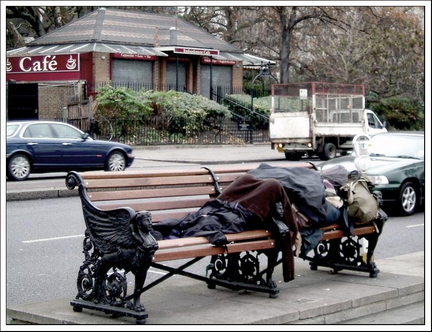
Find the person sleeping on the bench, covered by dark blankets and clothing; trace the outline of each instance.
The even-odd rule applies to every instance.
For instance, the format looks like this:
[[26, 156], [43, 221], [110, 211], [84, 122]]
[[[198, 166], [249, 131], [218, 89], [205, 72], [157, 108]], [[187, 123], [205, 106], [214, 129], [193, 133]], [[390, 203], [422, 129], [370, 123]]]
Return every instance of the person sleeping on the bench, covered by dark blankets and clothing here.
[[318, 244], [323, 235], [319, 227], [337, 223], [347, 236], [352, 235], [345, 206], [336, 208], [325, 198], [317, 171], [261, 164], [200, 210], [154, 223], [151, 234], [156, 240], [204, 236], [212, 244], [224, 245], [225, 234], [268, 229], [279, 239], [284, 281], [289, 281], [294, 278], [294, 253], [304, 258]]

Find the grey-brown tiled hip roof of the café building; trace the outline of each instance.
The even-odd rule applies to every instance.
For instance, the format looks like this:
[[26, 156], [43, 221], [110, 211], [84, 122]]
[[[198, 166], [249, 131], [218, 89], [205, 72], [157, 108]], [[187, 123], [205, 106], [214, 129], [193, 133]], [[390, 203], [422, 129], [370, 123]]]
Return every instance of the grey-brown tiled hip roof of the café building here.
[[[175, 45], [170, 43], [172, 27], [178, 29]], [[144, 47], [185, 46], [241, 52], [226, 41], [175, 16], [104, 8], [35, 39], [29, 46], [88, 42]]]

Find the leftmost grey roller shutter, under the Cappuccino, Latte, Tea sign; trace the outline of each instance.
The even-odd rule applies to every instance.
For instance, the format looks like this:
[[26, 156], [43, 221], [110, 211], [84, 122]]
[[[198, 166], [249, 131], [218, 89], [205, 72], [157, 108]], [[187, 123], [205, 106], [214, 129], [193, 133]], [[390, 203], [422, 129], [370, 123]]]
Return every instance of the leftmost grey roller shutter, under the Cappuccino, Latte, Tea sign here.
[[151, 61], [113, 59], [113, 85], [135, 91], [152, 89], [152, 64]]

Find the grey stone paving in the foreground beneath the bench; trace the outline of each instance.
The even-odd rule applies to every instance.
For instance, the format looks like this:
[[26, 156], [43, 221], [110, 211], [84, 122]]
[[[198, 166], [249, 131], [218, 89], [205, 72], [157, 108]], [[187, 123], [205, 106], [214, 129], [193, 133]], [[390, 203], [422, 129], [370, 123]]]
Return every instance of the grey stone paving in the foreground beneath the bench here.
[[[273, 274], [280, 289], [277, 299], [220, 287], [211, 290], [203, 282], [176, 275], [145, 292], [141, 300], [147, 325], [425, 324], [424, 252], [376, 263], [380, 272], [370, 278], [360, 272], [312, 271], [296, 258], [294, 280], [282, 282], [280, 266]], [[17, 305], [6, 313], [13, 324], [135, 324], [132, 318], [86, 309], [74, 312], [71, 300]]]

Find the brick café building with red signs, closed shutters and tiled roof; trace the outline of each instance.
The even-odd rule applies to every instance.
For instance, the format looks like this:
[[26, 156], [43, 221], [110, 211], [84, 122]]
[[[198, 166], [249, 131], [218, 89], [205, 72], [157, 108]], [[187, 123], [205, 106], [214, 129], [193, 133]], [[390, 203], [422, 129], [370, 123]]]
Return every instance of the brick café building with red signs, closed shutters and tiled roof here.
[[61, 118], [106, 84], [214, 98], [241, 90], [245, 67], [274, 63], [175, 16], [100, 8], [6, 52], [7, 118]]

